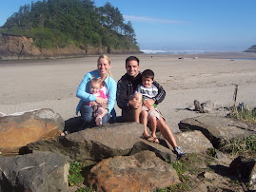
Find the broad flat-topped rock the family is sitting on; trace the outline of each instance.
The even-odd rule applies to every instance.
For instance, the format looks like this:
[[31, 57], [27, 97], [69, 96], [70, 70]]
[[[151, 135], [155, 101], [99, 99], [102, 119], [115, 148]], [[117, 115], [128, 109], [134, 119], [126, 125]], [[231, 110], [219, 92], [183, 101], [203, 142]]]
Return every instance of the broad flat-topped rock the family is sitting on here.
[[96, 126], [70, 133], [59, 140], [28, 144], [22, 153], [55, 151], [69, 156], [71, 160], [100, 162], [117, 155], [128, 155], [133, 144], [141, 141], [143, 130], [144, 126], [138, 123]]

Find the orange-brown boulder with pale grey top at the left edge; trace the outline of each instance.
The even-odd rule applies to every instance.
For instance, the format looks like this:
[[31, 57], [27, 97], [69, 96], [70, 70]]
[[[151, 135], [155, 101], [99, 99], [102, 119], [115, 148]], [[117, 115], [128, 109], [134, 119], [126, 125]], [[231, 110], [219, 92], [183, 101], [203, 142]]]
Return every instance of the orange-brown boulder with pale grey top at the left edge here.
[[38, 109], [0, 117], [0, 151], [18, 151], [26, 144], [56, 139], [64, 120], [51, 109]]

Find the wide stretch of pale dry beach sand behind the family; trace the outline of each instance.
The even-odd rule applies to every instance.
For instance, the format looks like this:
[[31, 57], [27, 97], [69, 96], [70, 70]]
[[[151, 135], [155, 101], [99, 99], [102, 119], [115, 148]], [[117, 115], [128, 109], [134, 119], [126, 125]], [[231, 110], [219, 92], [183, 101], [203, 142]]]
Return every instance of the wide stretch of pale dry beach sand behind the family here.
[[[150, 68], [167, 91], [159, 105], [167, 124], [177, 132], [178, 123], [199, 115], [184, 110], [198, 99], [219, 106], [232, 106], [235, 85], [237, 102], [256, 106], [256, 53], [210, 53], [197, 55], [137, 55], [141, 71]], [[194, 59], [194, 57], [198, 57]], [[118, 81], [125, 74], [128, 55], [110, 55], [112, 74]], [[96, 68], [97, 56], [38, 61], [0, 61], [0, 112], [11, 114], [37, 108], [52, 108], [64, 120], [75, 116], [79, 101], [77, 86], [84, 75]], [[121, 114], [115, 106], [117, 114]], [[213, 112], [212, 115], [223, 115]]]

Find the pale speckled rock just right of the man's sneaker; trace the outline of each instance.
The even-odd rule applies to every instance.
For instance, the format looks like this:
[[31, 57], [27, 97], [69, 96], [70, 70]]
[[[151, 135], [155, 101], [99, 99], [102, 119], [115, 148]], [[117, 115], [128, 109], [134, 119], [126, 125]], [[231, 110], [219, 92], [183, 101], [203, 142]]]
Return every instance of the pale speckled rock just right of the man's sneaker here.
[[186, 153], [202, 153], [213, 145], [201, 131], [187, 131], [175, 134], [176, 142]]

